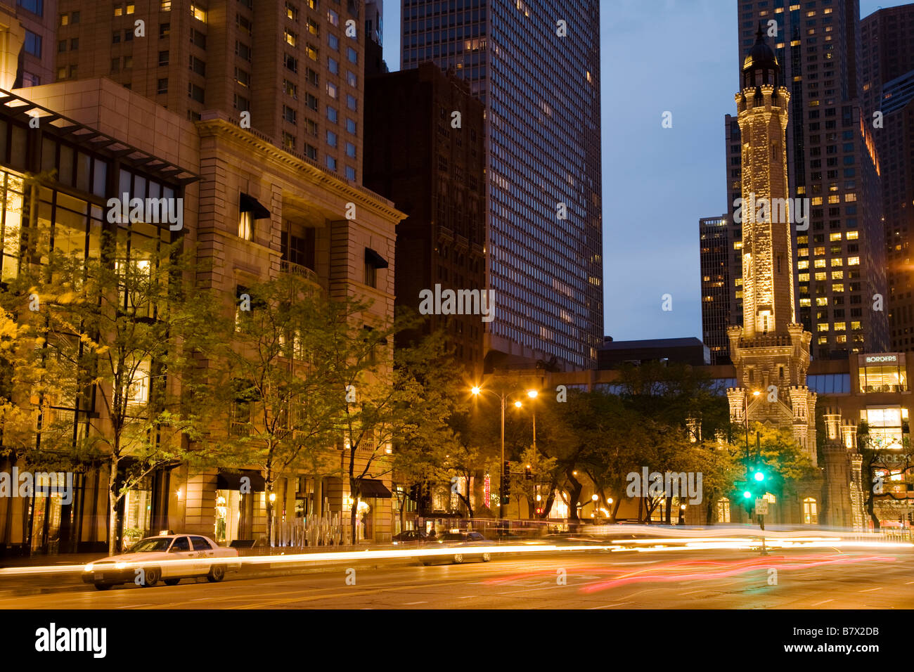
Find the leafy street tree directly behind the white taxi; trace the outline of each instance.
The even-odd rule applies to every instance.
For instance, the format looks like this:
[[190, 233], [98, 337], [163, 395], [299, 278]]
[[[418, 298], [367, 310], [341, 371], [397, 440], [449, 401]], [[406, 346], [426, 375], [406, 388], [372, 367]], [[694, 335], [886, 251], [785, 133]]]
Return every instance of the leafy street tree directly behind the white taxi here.
[[157, 468], [210, 457], [189, 445], [212, 410], [194, 352], [219, 337], [217, 309], [197, 285], [194, 251], [181, 247], [102, 234], [99, 257], [48, 251], [6, 296], [37, 346], [37, 447], [109, 468], [112, 553], [127, 492]]

